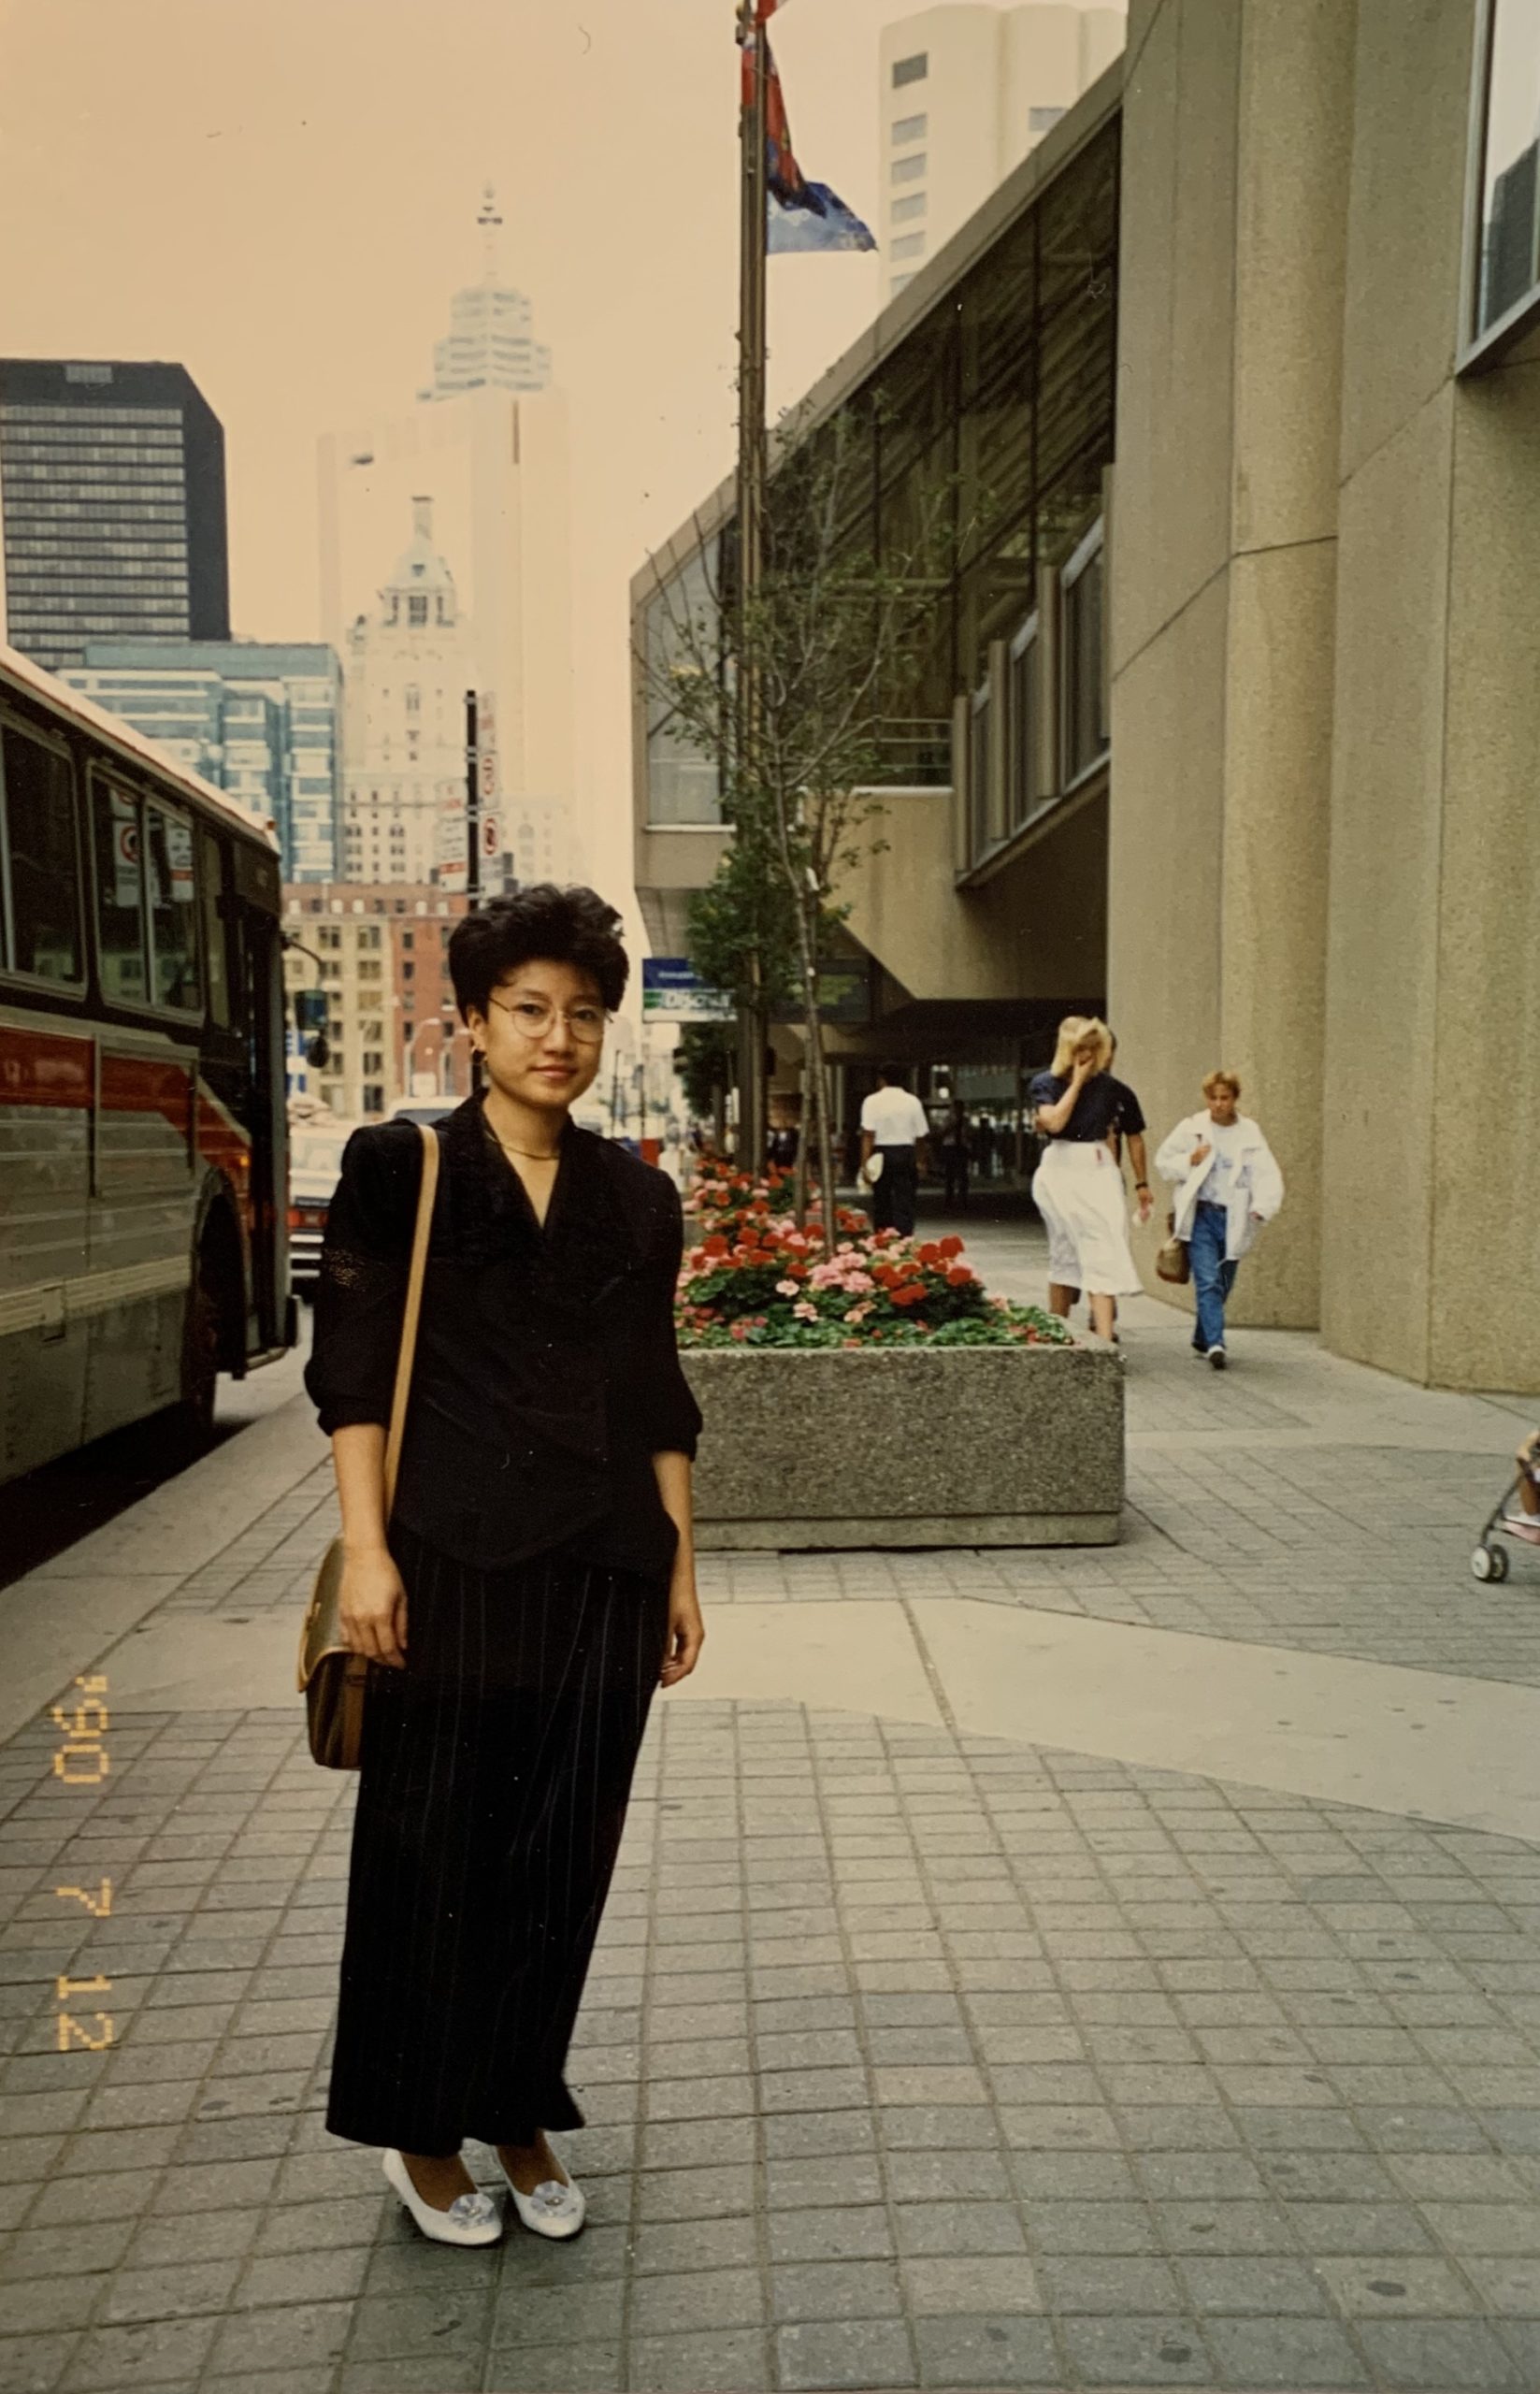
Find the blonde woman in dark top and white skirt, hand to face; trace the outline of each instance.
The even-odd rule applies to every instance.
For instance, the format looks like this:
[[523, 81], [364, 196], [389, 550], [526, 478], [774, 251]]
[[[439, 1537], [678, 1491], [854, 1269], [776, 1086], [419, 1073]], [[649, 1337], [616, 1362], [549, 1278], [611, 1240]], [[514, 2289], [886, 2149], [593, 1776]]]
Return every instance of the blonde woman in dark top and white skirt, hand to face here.
[[[1066, 1015], [1054, 1068], [1037, 1073], [1027, 1092], [1044, 1137], [1032, 1202], [1049, 1231], [1049, 1310], [1068, 1319], [1083, 1288], [1099, 1338], [1116, 1338], [1114, 1300], [1142, 1288], [1128, 1252], [1123, 1173], [1111, 1152], [1123, 1092], [1109, 1063], [1107, 1025], [1097, 1015]], [[1150, 1190], [1140, 1190], [1140, 1221], [1150, 1221]]]

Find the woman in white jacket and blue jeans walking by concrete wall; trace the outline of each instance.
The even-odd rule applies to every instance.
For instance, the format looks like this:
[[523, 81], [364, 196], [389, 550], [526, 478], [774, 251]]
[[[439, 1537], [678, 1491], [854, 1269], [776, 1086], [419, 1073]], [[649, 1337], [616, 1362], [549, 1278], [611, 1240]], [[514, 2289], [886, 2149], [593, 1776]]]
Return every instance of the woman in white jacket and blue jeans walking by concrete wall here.
[[1241, 1113], [1241, 1077], [1209, 1073], [1205, 1113], [1188, 1113], [1154, 1159], [1162, 1180], [1178, 1180], [1174, 1235], [1193, 1259], [1193, 1353], [1224, 1372], [1224, 1305], [1236, 1266], [1260, 1226], [1284, 1204], [1284, 1175], [1262, 1125]]

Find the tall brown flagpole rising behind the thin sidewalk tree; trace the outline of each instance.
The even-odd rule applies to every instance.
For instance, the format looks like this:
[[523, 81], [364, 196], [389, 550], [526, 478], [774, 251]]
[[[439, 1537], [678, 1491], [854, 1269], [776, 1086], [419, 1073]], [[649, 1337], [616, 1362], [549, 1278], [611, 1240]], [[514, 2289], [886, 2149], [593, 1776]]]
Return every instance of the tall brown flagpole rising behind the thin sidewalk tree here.
[[[740, 139], [740, 239], [738, 239], [738, 764], [740, 778], [752, 773], [759, 730], [757, 675], [750, 663], [752, 603], [764, 567], [764, 364], [766, 364], [766, 55], [764, 10], [757, 0], [738, 0], [738, 43], [742, 55], [742, 96], [738, 110]], [[750, 950], [750, 1005], [740, 1020], [738, 1130], [740, 1168], [759, 1171], [764, 1161], [764, 1003], [759, 998], [759, 953]]]

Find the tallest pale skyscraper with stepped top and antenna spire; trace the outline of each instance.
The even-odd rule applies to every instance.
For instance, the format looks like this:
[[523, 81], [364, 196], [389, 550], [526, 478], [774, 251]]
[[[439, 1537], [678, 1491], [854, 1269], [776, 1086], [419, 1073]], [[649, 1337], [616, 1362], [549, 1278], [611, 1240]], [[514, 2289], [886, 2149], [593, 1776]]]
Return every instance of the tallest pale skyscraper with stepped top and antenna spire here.
[[[503, 831], [522, 807], [541, 824], [570, 824], [572, 809], [568, 409], [529, 302], [501, 278], [491, 194], [477, 223], [481, 280], [450, 302], [431, 388], [321, 438], [321, 618], [347, 656], [350, 627], [388, 587], [407, 510], [431, 500], [462, 630], [460, 701], [467, 687], [493, 701]], [[560, 843], [539, 845], [556, 855]]]

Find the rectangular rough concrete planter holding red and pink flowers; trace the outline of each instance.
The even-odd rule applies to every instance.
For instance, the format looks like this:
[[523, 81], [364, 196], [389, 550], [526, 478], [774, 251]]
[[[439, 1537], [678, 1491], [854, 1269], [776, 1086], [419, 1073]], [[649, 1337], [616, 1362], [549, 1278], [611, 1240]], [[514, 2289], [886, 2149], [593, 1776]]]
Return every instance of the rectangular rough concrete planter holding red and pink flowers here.
[[1075, 1348], [685, 1348], [697, 1542], [1111, 1547], [1123, 1357]]

